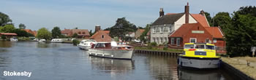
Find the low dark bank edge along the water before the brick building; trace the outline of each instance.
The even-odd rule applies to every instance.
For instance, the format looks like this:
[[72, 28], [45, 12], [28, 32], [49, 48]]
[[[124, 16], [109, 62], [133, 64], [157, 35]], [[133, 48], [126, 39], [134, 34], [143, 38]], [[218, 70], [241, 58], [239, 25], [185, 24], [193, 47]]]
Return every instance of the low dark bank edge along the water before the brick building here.
[[183, 49], [163, 49], [158, 47], [134, 47], [135, 49], [143, 49], [143, 50], [149, 50], [149, 51], [159, 51], [159, 52], [183, 52]]

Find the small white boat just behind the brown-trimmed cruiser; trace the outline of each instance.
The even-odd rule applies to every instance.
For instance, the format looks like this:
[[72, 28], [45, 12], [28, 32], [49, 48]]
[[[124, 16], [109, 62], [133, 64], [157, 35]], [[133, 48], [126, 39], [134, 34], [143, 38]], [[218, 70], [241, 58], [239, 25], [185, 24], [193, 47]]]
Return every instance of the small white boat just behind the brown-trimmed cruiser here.
[[79, 49], [91, 49], [91, 46], [95, 43], [96, 41], [94, 39], [85, 39], [80, 41], [78, 44]]

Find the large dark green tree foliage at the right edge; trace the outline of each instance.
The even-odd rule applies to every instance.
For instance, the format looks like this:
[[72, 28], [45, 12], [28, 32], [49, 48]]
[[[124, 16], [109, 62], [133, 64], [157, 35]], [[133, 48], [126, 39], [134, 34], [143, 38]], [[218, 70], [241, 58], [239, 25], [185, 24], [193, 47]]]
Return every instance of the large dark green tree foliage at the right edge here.
[[232, 26], [227, 28], [227, 54], [230, 57], [251, 55], [251, 47], [256, 46], [256, 17], [234, 12]]

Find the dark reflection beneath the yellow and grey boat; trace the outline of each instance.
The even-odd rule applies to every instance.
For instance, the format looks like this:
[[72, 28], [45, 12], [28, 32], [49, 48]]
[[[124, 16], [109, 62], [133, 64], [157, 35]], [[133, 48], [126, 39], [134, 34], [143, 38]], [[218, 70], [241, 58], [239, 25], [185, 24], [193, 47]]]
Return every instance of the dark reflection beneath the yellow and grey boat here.
[[178, 69], [179, 80], [224, 80], [220, 71], [192, 71]]

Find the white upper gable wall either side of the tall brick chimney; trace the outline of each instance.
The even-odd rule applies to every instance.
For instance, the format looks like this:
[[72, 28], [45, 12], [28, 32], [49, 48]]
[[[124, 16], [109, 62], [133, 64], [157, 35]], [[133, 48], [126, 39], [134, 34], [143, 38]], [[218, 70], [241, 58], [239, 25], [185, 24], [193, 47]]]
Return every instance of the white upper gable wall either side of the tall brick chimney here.
[[[181, 27], [181, 25], [183, 25], [185, 23], [185, 14], [178, 19], [174, 24], [174, 31], [176, 31], [178, 28]], [[191, 15], [189, 15], [189, 23], [197, 23], [197, 21], [194, 19], [194, 17], [192, 17]]]

